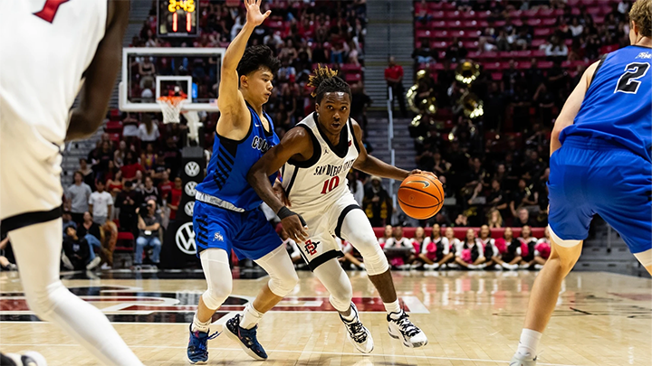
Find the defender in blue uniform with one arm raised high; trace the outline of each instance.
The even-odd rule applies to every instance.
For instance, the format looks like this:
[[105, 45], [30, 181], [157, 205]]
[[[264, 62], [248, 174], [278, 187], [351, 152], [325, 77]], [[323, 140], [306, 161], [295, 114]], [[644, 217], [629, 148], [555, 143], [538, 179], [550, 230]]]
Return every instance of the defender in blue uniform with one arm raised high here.
[[[273, 226], [258, 207], [263, 202], [247, 183], [246, 174], [279, 138], [263, 105], [272, 94], [273, 76], [280, 62], [267, 46], [246, 48], [249, 36], [271, 14], [261, 14], [261, 0], [245, 0], [246, 23], [225, 52], [217, 105], [213, 156], [204, 182], [197, 185], [193, 227], [208, 289], [200, 297], [190, 326], [187, 359], [193, 364], [208, 360], [206, 343], [213, 314], [231, 294], [231, 250], [238, 258], [253, 259], [270, 275], [269, 282], [225, 324], [225, 333], [256, 360], [267, 354], [256, 339], [257, 323], [265, 312], [287, 295], [299, 280], [292, 260]], [[276, 174], [269, 177], [273, 183]]]

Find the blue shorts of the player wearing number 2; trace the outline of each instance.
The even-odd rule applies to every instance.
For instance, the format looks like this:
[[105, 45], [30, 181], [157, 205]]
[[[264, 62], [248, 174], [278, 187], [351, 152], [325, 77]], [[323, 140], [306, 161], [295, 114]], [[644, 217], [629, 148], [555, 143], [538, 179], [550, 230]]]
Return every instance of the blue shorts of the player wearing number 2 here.
[[551, 155], [550, 169], [548, 221], [560, 239], [586, 239], [597, 213], [632, 253], [652, 249], [649, 161], [606, 140], [569, 136]]

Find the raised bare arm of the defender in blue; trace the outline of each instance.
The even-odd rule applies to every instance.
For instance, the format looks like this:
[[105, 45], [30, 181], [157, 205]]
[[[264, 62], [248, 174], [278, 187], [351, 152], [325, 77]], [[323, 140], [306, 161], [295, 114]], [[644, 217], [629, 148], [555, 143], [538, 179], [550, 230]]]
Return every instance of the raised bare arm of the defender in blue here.
[[272, 14], [271, 11], [261, 14], [261, 1], [245, 0], [247, 12], [245, 26], [243, 26], [240, 33], [229, 44], [224, 55], [224, 60], [222, 60], [217, 107], [220, 109], [223, 117], [220, 117], [218, 124], [226, 123], [227, 125], [231, 125], [227, 127], [237, 128], [237, 125], [243, 123], [243, 119], [245, 119], [240, 118], [240, 116], [245, 114], [247, 108], [245, 99], [238, 90], [239, 76], [237, 74], [237, 65], [240, 63], [243, 54], [245, 54], [246, 44], [251, 34], [254, 33], [254, 28], [262, 24]]

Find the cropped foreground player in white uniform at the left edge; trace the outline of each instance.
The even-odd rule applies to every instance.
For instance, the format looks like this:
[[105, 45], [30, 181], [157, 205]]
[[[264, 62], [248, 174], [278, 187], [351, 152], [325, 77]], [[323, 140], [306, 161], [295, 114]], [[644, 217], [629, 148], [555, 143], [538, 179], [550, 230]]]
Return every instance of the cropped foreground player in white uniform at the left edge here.
[[0, 229], [14, 245], [27, 304], [103, 364], [141, 365], [101, 311], [59, 279], [61, 150], [64, 141], [101, 126], [120, 69], [129, 1], [3, 3]]

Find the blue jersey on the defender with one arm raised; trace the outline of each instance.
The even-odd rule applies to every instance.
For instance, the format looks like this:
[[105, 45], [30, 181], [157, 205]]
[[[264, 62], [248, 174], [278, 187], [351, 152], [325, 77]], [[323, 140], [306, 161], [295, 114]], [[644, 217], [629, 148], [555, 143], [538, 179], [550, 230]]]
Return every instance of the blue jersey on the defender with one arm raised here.
[[[237, 209], [252, 211], [257, 209], [263, 200], [247, 182], [246, 174], [267, 150], [279, 143], [279, 138], [273, 130], [272, 118], [269, 115], [264, 114], [269, 121], [271, 132], [265, 131], [254, 108], [248, 104], [247, 108], [252, 118], [249, 132], [240, 141], [216, 135], [206, 178], [197, 185], [197, 192], [229, 202]], [[276, 179], [276, 175], [274, 173], [270, 176], [271, 183]]]

